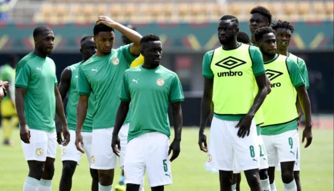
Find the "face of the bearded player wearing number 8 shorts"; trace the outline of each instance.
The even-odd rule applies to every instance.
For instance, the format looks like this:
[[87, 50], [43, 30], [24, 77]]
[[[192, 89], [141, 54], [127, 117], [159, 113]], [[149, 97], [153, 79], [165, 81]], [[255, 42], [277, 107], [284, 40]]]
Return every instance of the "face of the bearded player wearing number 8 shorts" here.
[[220, 20], [218, 23], [218, 38], [220, 44], [226, 44], [234, 40], [236, 34], [239, 32], [235, 21], [233, 20]]

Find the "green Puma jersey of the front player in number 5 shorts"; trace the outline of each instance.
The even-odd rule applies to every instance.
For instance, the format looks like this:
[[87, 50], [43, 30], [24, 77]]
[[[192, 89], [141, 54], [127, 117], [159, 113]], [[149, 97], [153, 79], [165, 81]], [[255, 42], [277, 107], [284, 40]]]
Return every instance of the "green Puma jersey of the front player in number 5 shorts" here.
[[161, 65], [155, 69], [141, 65], [125, 71], [119, 97], [131, 102], [128, 142], [149, 132], [161, 132], [169, 137], [168, 105], [184, 101], [177, 74]]

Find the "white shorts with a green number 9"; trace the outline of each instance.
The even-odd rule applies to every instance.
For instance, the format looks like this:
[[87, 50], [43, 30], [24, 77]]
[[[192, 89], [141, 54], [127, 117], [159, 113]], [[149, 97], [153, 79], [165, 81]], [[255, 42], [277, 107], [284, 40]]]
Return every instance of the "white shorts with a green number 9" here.
[[270, 167], [278, 166], [281, 162], [297, 160], [297, 150], [299, 150], [297, 129], [278, 135], [262, 135], [262, 138], [266, 147]]

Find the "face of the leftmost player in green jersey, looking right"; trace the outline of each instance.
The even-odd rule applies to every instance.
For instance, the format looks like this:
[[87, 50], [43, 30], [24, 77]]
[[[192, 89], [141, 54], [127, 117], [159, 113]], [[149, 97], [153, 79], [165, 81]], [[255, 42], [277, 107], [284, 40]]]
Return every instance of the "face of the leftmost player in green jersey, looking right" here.
[[35, 44], [40, 52], [51, 54], [53, 49], [54, 35], [52, 31], [45, 31], [34, 38]]

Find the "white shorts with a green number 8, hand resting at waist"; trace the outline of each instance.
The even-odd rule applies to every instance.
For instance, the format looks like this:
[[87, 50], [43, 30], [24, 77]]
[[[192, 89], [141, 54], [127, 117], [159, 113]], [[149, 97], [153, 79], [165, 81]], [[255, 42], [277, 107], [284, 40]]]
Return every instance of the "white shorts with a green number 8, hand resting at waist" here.
[[249, 136], [246, 135], [244, 138], [237, 135], [239, 128], [235, 126], [238, 122], [213, 117], [207, 159], [209, 167], [233, 171], [234, 158], [239, 170], [244, 171], [260, 167], [255, 121], [252, 120]]

